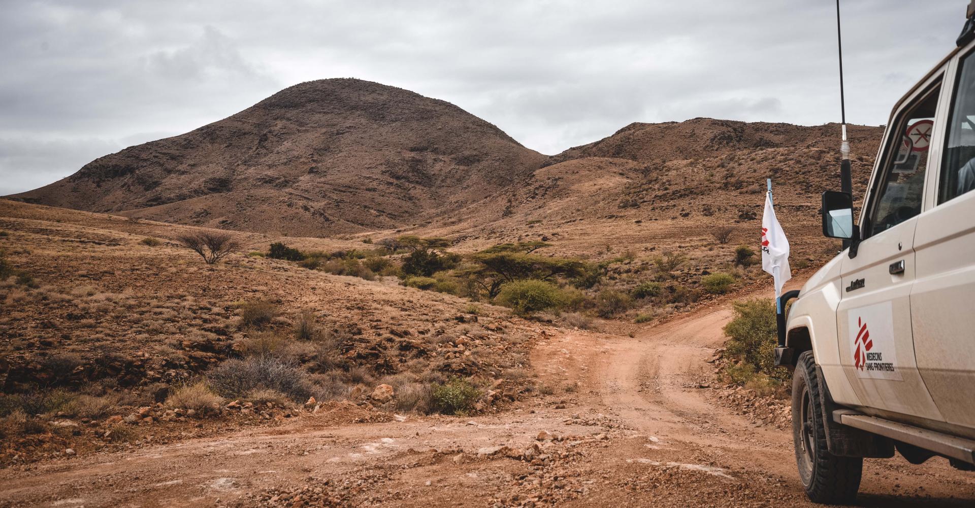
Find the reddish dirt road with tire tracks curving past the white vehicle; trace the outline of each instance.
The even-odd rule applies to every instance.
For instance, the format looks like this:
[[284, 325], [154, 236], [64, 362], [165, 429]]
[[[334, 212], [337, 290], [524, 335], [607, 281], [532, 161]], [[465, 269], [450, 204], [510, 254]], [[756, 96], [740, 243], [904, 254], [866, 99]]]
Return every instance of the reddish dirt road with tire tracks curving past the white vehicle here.
[[[42, 462], [3, 475], [0, 506], [807, 504], [791, 434], [698, 387], [729, 318], [702, 308], [635, 338], [547, 338], [532, 364], [552, 393], [500, 415], [353, 423], [362, 410], [334, 405], [219, 439]], [[861, 492], [865, 506], [972, 506], [975, 475], [944, 459], [870, 460]]]

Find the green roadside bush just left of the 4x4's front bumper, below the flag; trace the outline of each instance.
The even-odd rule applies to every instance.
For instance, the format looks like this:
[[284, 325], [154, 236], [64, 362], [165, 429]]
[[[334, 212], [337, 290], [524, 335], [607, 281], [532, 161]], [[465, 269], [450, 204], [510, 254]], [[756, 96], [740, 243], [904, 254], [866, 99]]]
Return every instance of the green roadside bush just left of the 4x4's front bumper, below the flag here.
[[[750, 366], [752, 372], [785, 381], [789, 371], [775, 366], [775, 303], [771, 299], [733, 304], [734, 318], [724, 325], [724, 356]], [[740, 369], [747, 369], [740, 367]]]

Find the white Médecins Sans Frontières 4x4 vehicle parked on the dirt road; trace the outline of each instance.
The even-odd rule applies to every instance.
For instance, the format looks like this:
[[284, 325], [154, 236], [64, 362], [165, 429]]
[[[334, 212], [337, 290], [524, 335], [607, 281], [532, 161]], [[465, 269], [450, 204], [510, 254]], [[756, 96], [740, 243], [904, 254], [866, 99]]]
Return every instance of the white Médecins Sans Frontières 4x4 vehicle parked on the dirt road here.
[[975, 464], [975, 1], [968, 15], [894, 107], [859, 223], [848, 193], [823, 193], [824, 234], [848, 247], [780, 319], [813, 501], [852, 500], [864, 457]]

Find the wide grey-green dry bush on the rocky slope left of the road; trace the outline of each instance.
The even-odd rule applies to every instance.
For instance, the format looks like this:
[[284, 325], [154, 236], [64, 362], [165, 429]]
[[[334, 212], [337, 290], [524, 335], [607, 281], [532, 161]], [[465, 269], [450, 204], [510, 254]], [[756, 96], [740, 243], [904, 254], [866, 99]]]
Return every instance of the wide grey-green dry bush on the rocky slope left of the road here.
[[232, 358], [217, 365], [207, 376], [216, 393], [227, 398], [246, 397], [254, 389], [271, 389], [304, 401], [312, 392], [308, 374], [270, 356]]

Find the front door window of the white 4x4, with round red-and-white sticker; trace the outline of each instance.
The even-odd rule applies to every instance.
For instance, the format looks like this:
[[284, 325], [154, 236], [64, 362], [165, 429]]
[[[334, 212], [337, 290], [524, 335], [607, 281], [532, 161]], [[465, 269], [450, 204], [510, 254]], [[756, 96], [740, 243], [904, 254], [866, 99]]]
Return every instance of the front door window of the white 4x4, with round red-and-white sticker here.
[[929, 91], [909, 109], [897, 127], [900, 142], [889, 148], [884, 168], [877, 183], [877, 198], [865, 232], [874, 236], [920, 213], [924, 196], [924, 170], [934, 127], [934, 112], [938, 107], [938, 89]]

